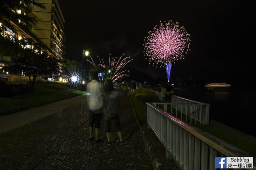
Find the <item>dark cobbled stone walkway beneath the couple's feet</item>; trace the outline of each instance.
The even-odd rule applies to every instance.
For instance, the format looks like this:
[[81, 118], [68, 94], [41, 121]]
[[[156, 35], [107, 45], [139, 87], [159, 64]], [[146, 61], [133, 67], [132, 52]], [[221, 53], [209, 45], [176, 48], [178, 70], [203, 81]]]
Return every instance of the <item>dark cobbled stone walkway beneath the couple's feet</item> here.
[[[115, 143], [106, 144], [104, 121], [100, 129], [104, 141], [88, 141], [88, 107], [86, 96], [80, 96], [80, 102], [72, 103], [77, 98], [71, 98], [69, 104], [46, 105], [48, 110], [54, 105], [66, 108], [29, 123], [20, 118], [24, 125], [10, 125], [10, 130], [0, 132], [0, 170], [178, 170], [174, 160], [165, 159], [165, 150], [154, 133], [136, 122], [128, 93], [121, 93], [120, 120], [126, 145], [119, 145], [114, 125], [111, 137]], [[30, 114], [40, 113], [34, 108]]]

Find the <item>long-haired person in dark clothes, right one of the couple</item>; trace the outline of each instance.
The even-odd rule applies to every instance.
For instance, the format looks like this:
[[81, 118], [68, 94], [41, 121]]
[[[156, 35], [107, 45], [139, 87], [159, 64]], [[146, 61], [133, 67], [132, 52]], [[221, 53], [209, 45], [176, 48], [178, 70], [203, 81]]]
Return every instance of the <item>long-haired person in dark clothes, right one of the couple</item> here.
[[120, 97], [118, 92], [114, 90], [113, 82], [110, 79], [107, 79], [104, 87], [104, 119], [106, 124], [106, 137], [108, 140], [108, 145], [111, 145], [112, 141], [110, 140], [110, 127], [111, 121], [114, 122], [117, 135], [119, 137], [120, 145], [124, 145], [127, 141], [124, 141], [122, 138], [122, 128], [120, 125], [119, 114], [120, 110]]

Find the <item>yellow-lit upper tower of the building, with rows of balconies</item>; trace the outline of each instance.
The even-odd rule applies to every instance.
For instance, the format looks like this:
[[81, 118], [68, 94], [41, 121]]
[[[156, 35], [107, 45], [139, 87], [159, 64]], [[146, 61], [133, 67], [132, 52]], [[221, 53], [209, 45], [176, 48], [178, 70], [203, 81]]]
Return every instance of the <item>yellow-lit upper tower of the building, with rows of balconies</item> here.
[[45, 9], [30, 6], [29, 16], [36, 17], [37, 25], [33, 25], [30, 31], [48, 48], [59, 60], [64, 55], [64, 17], [60, 10], [58, 0], [40, 0]]

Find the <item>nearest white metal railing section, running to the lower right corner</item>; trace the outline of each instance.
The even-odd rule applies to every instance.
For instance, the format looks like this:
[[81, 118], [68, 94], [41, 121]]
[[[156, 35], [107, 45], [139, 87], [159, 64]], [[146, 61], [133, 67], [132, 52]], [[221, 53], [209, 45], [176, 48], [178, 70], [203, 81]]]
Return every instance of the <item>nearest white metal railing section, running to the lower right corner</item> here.
[[146, 105], [148, 128], [165, 147], [166, 158], [172, 156], [182, 170], [215, 170], [216, 156], [250, 156], [154, 104], [146, 102]]

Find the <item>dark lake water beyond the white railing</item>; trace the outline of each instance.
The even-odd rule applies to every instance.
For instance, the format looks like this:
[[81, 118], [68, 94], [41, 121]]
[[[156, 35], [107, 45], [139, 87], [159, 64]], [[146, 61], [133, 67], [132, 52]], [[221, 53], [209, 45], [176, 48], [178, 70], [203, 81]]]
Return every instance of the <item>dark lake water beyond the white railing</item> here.
[[254, 91], [174, 88], [174, 95], [210, 104], [210, 119], [256, 137]]

